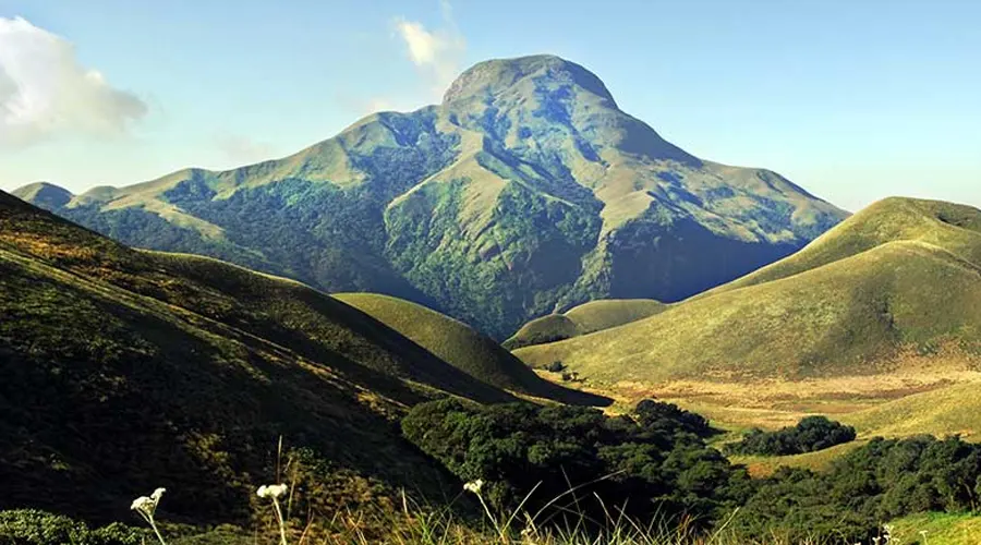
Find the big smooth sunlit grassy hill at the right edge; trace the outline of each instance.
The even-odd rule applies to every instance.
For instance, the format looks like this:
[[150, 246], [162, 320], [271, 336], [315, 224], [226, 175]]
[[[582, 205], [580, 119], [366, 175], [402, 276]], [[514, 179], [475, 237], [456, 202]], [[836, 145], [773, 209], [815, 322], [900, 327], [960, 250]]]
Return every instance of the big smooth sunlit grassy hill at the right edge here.
[[981, 210], [882, 201], [661, 314], [516, 354], [605, 382], [871, 375], [934, 355], [978, 368]]

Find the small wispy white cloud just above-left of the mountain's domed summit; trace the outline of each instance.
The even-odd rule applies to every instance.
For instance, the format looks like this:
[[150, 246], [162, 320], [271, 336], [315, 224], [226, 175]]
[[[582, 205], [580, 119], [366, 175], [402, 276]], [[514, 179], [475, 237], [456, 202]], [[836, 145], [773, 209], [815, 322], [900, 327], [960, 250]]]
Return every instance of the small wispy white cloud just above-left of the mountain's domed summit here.
[[452, 7], [446, 0], [439, 5], [443, 28], [431, 31], [417, 21], [396, 21], [396, 31], [405, 45], [409, 60], [423, 72], [437, 97], [460, 73], [467, 51], [467, 40], [453, 22]]

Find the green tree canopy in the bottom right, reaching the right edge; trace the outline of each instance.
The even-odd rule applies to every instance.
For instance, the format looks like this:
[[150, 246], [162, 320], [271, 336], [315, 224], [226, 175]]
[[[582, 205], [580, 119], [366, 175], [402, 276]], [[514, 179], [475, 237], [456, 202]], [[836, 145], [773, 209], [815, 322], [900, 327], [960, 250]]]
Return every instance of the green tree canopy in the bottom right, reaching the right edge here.
[[731, 522], [744, 536], [808, 535], [868, 543], [892, 519], [928, 511], [973, 511], [981, 494], [981, 445], [958, 437], [876, 438], [831, 471], [780, 469]]

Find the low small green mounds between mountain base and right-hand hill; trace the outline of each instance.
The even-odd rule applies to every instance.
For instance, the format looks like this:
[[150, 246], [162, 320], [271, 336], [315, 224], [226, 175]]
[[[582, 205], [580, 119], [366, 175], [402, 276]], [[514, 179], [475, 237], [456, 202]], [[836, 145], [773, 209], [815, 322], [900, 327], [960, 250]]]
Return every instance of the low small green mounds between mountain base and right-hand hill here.
[[602, 299], [564, 314], [535, 318], [504, 342], [508, 350], [588, 335], [664, 312], [668, 305], [651, 299]]

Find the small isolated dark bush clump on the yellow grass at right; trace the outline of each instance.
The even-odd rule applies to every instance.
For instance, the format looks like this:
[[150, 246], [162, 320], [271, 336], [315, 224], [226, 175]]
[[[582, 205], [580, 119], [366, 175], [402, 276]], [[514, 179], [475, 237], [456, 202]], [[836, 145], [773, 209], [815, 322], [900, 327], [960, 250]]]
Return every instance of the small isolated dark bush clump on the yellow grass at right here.
[[729, 455], [790, 456], [823, 450], [855, 440], [855, 428], [825, 416], [808, 416], [776, 432], [749, 431], [742, 440], [726, 445]]

